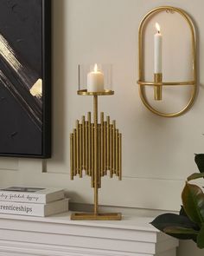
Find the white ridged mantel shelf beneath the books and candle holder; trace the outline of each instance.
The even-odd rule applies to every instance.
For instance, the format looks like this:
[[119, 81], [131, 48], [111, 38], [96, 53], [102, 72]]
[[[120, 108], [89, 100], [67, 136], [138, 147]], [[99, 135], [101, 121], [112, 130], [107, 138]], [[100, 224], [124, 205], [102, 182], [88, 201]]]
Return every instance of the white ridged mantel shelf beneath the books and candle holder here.
[[149, 224], [150, 218], [73, 221], [0, 214], [0, 256], [175, 256], [178, 241]]

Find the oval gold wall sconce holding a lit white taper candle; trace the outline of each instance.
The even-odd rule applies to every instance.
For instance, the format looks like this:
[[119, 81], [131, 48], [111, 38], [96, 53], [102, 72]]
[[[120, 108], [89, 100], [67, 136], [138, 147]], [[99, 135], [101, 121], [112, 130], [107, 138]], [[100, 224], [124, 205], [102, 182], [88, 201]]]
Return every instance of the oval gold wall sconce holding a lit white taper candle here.
[[[180, 82], [165, 82], [163, 81], [163, 70], [162, 70], [162, 40], [163, 36], [162, 33], [159, 30], [159, 27], [157, 25], [157, 33], [154, 37], [154, 75], [153, 75], [153, 82], [147, 82], [144, 78], [144, 60], [143, 60], [143, 51], [144, 51], [144, 30], [147, 23], [149, 23], [150, 18], [152, 16], [155, 16], [158, 13], [166, 12], [167, 14], [174, 14], [177, 13], [181, 15], [186, 23], [188, 23], [188, 27], [191, 34], [191, 69], [192, 69], [192, 80], [190, 81], [180, 81]], [[173, 17], [174, 18], [174, 17]], [[195, 31], [194, 31], [194, 23], [192, 22], [191, 18], [188, 16], [188, 14], [181, 9], [171, 7], [171, 6], [161, 6], [157, 7], [156, 9], [150, 10], [149, 13], [147, 13], [146, 16], [143, 17], [142, 22], [140, 23], [139, 30], [138, 30], [138, 88], [139, 88], [139, 95], [140, 98], [145, 105], [146, 108], [148, 108], [151, 112], [153, 112], [156, 115], [161, 115], [163, 117], [175, 117], [182, 115], [184, 112], [186, 112], [189, 108], [191, 108], [194, 98], [196, 95], [196, 38], [195, 38]], [[156, 101], [163, 100], [163, 88], [166, 86], [191, 86], [191, 93], [189, 100], [184, 108], [177, 112], [173, 113], [165, 113], [157, 110], [154, 108], [150, 102], [148, 101], [146, 95], [145, 95], [145, 87], [153, 87], [154, 88], [154, 99]]]

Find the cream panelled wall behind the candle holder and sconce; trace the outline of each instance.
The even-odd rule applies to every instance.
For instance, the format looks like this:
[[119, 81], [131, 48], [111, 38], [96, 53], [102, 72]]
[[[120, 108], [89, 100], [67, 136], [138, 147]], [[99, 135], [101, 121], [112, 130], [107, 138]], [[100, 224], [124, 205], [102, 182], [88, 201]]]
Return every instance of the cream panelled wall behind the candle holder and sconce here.
[[[77, 65], [112, 63], [115, 95], [99, 98], [99, 108], [117, 120], [123, 134], [124, 178], [105, 178], [99, 201], [107, 206], [179, 209], [185, 178], [196, 170], [194, 153], [203, 153], [204, 75], [199, 76], [199, 94], [187, 114], [166, 119], [143, 107], [136, 82], [137, 28], [148, 10], [164, 4], [181, 7], [193, 17], [204, 69], [201, 0], [53, 1], [53, 158], [1, 159], [0, 185], [66, 187], [74, 202], [92, 203], [90, 180], [69, 180], [69, 133], [75, 120], [92, 110], [92, 98], [76, 94]], [[176, 60], [181, 69], [183, 62]], [[165, 64], [167, 76], [170, 66]], [[188, 245], [182, 243], [181, 256], [192, 254]]]

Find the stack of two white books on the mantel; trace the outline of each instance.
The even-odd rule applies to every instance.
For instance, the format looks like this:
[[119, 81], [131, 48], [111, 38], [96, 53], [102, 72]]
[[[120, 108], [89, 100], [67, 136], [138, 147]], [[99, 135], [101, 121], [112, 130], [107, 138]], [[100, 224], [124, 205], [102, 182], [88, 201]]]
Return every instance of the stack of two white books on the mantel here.
[[0, 189], [0, 213], [49, 216], [68, 211], [63, 189], [6, 187]]

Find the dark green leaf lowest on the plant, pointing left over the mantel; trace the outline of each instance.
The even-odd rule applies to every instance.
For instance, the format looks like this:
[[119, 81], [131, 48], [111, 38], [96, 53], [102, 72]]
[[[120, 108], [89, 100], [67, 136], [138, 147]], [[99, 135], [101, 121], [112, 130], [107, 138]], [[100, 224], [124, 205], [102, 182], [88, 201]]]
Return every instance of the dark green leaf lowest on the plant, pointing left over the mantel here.
[[163, 233], [165, 230], [172, 226], [179, 226], [181, 228], [188, 228], [194, 230], [194, 233], [167, 233], [180, 240], [194, 240], [197, 239], [197, 232], [199, 231], [199, 226], [194, 224], [187, 216], [177, 215], [175, 213], [164, 213], [156, 217], [155, 220], [151, 222], [151, 225], [155, 226], [157, 229], [161, 230]]

